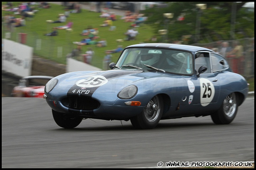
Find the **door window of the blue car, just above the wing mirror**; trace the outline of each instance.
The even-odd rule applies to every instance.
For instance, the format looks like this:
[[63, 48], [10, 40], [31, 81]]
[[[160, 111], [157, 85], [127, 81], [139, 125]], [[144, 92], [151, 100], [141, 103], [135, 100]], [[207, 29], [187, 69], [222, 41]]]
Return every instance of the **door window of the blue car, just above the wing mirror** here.
[[196, 53], [195, 68], [196, 68], [197, 72], [198, 72], [198, 69], [201, 66], [206, 66], [207, 67], [206, 72], [204, 72], [202, 74], [211, 73], [209, 52], [198, 52], [198, 53]]

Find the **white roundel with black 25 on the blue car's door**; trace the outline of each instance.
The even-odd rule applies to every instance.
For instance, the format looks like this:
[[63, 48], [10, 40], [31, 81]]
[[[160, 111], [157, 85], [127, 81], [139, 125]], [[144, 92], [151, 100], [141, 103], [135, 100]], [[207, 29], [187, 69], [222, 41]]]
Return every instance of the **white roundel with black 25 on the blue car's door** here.
[[202, 106], [207, 106], [215, 95], [215, 88], [208, 79], [200, 79], [200, 102]]

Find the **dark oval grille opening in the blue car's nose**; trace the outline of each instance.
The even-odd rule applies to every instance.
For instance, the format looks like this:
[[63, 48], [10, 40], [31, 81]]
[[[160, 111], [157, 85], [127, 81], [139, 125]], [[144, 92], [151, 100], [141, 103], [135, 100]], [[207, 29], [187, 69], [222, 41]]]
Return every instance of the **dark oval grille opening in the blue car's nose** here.
[[90, 97], [70, 96], [63, 98], [62, 104], [71, 109], [90, 111], [100, 107], [100, 103]]

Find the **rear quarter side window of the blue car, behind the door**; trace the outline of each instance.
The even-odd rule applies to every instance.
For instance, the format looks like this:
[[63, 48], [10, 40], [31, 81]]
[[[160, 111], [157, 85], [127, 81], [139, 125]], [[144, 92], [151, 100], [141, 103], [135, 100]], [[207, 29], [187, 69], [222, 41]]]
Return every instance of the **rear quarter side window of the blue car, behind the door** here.
[[211, 60], [212, 60], [213, 72], [218, 72], [218, 71], [229, 68], [229, 65], [226, 59], [218, 54], [211, 53]]

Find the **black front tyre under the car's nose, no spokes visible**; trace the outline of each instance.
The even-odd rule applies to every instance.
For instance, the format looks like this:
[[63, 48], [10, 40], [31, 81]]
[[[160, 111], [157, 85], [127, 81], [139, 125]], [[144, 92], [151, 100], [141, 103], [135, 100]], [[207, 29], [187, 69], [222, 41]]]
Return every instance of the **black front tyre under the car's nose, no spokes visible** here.
[[52, 109], [53, 119], [62, 128], [71, 129], [78, 126], [82, 119], [79, 117], [72, 117], [65, 113], [56, 112]]

